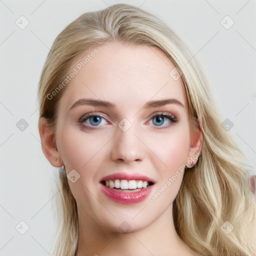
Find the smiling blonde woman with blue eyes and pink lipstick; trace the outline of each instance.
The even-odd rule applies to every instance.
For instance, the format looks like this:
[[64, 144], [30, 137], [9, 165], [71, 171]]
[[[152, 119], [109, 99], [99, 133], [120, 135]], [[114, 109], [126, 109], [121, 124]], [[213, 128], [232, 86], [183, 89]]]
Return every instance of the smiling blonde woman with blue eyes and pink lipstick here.
[[55, 39], [38, 97], [59, 169], [53, 255], [254, 255], [248, 169], [204, 74], [159, 19], [127, 4]]

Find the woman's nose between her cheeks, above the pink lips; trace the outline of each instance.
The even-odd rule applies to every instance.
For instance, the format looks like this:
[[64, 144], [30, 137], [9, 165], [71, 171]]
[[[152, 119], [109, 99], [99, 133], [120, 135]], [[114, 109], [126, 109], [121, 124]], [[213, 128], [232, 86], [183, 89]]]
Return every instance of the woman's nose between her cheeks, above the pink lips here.
[[139, 136], [133, 133], [131, 126], [127, 131], [117, 128], [117, 134], [113, 138], [111, 148], [111, 159], [113, 161], [133, 162], [142, 161], [145, 154], [145, 147], [138, 138]]

